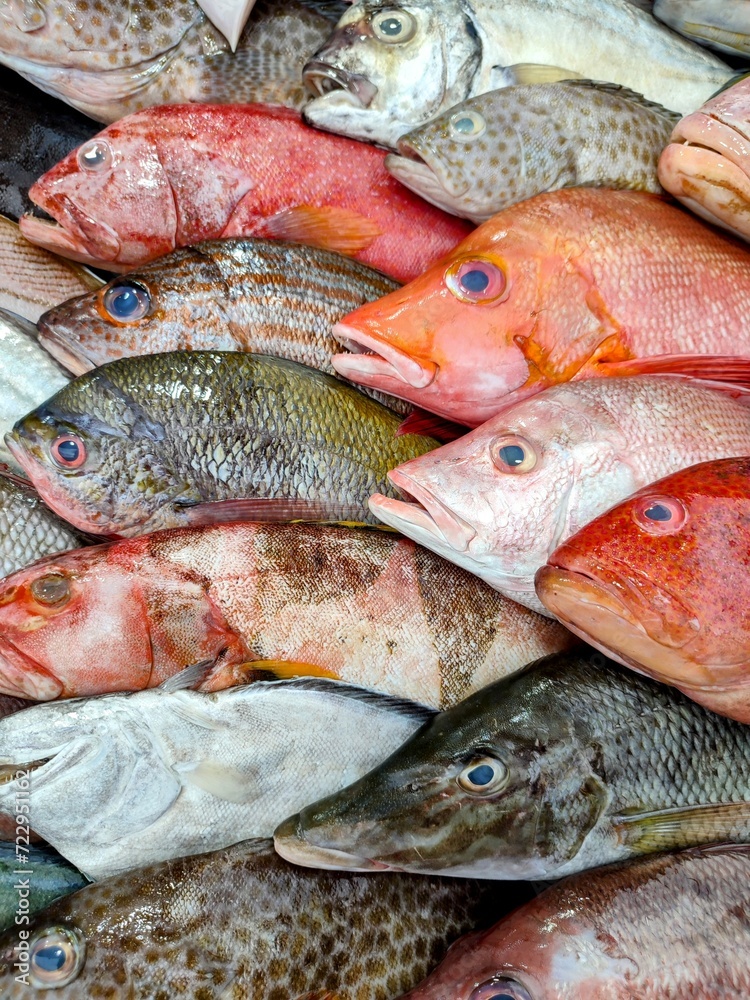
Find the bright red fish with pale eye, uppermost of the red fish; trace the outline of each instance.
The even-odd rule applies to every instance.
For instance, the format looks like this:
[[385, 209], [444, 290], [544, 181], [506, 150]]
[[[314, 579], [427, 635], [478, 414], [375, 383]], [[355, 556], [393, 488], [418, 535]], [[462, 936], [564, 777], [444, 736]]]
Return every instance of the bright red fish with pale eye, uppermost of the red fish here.
[[340, 250], [408, 281], [470, 231], [408, 192], [385, 153], [264, 104], [150, 108], [101, 132], [29, 192], [55, 221], [21, 231], [127, 271], [204, 239], [261, 236]]

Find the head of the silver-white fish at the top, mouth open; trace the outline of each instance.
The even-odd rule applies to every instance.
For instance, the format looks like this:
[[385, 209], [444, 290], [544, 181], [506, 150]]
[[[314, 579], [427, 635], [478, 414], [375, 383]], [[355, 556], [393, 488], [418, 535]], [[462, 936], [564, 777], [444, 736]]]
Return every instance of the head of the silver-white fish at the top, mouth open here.
[[311, 125], [396, 148], [469, 95], [482, 45], [456, 0], [359, 0], [303, 70]]

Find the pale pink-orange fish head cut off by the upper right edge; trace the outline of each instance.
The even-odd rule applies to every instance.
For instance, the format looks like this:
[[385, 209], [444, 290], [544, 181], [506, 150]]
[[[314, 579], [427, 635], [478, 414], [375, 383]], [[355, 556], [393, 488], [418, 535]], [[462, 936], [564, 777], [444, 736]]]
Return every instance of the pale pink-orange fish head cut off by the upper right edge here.
[[675, 127], [659, 160], [659, 179], [696, 215], [750, 240], [749, 164], [750, 77], [745, 77]]

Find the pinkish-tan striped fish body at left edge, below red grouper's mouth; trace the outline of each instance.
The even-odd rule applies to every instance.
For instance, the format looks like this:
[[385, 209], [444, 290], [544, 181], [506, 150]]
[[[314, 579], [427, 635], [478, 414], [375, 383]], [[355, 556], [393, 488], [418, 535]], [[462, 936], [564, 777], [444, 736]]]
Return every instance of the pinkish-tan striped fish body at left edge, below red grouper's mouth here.
[[85, 267], [29, 243], [15, 222], [0, 215], [0, 309], [36, 323], [53, 306], [103, 284]]

